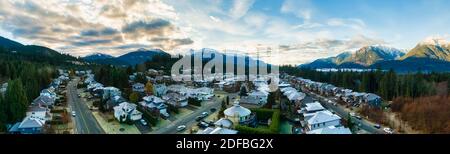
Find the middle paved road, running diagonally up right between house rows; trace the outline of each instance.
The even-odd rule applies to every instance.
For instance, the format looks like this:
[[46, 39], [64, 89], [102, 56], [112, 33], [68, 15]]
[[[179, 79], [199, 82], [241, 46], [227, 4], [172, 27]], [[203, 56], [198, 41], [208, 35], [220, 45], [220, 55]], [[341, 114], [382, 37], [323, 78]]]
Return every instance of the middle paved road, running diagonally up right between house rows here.
[[174, 122], [170, 123], [167, 127], [158, 129], [156, 131], [152, 131], [151, 134], [176, 134], [177, 133], [177, 127], [180, 125], [185, 125], [186, 129], [190, 129], [193, 125], [197, 123], [195, 121], [195, 118], [199, 116], [202, 112], [210, 112], [211, 108], [216, 108], [218, 112], [221, 100], [218, 101], [218, 98], [214, 97], [212, 101], [209, 101], [206, 104], [203, 104], [199, 109], [195, 110], [193, 113], [187, 115], [186, 117], [181, 117]]

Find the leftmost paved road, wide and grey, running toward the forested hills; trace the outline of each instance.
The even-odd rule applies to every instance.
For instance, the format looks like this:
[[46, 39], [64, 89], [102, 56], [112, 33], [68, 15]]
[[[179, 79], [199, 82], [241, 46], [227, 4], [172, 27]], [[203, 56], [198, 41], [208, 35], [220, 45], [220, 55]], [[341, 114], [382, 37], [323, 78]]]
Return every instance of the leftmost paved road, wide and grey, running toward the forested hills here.
[[[70, 110], [75, 111], [76, 116], [72, 117], [75, 123], [75, 132], [77, 134], [104, 134], [103, 129], [97, 123], [91, 110], [86, 103], [78, 97], [77, 83], [79, 79], [72, 80], [67, 85], [67, 101]], [[72, 114], [72, 113], [71, 113]]]

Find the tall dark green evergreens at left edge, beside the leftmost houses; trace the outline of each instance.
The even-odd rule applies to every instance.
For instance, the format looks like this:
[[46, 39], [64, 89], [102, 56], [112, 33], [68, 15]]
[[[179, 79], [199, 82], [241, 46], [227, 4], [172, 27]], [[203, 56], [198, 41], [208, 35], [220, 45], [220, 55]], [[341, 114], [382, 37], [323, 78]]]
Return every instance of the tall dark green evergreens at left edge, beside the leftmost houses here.
[[0, 84], [8, 83], [0, 95], [0, 132], [25, 117], [31, 101], [56, 77], [55, 70], [46, 63], [15, 59], [0, 49]]

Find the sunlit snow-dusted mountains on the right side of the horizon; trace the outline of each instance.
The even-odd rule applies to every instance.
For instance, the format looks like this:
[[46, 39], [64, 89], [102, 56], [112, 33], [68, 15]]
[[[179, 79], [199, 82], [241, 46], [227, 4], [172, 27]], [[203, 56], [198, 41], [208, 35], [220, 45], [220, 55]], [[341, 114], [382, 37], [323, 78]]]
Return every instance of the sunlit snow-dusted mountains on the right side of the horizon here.
[[426, 39], [409, 52], [374, 45], [335, 57], [317, 59], [302, 68], [394, 69], [396, 71], [450, 71], [450, 43], [442, 39]]

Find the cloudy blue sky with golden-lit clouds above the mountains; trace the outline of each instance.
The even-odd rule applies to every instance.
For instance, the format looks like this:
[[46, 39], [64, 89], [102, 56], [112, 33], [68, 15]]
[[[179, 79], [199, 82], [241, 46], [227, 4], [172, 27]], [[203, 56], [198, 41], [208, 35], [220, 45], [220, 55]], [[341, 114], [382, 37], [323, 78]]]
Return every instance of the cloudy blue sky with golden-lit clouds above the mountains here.
[[62, 53], [216, 49], [303, 64], [449, 39], [448, 0], [1, 0], [0, 36]]

